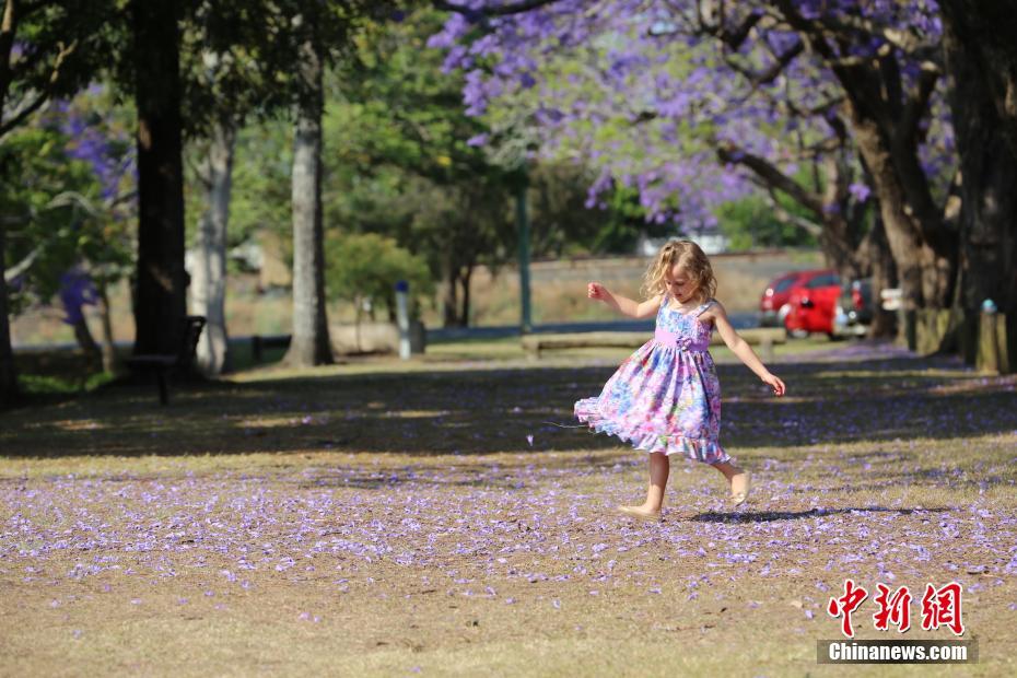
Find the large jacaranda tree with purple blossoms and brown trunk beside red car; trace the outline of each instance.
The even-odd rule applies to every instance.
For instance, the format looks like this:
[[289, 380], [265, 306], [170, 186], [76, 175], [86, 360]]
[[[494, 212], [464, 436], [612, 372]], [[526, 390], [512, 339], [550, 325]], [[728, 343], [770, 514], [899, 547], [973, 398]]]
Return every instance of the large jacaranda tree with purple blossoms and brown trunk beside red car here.
[[529, 104], [547, 152], [580, 149], [661, 219], [709, 225], [753, 185], [790, 196], [849, 270], [873, 196], [907, 303], [949, 303], [956, 159], [934, 3], [442, 4], [455, 11], [432, 45], [470, 69], [475, 113]]

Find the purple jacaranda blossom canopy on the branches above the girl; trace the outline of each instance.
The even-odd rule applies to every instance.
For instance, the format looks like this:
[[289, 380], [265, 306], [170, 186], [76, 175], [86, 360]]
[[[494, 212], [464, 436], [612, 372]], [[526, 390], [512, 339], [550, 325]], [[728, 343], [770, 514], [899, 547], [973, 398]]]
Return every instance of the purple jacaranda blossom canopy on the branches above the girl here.
[[[749, 172], [739, 162], [744, 153], [794, 176], [793, 157], [799, 149], [793, 140], [802, 138], [798, 133], [832, 140], [843, 122], [840, 107], [831, 105], [843, 97], [841, 85], [815, 50], [800, 49], [803, 36], [788, 27], [794, 22], [756, 24], [737, 47], [740, 58], [728, 60], [724, 54], [728, 46], [704, 35], [702, 20], [692, 10], [694, 3], [613, 0], [591, 8], [584, 0], [559, 0], [491, 17], [489, 30], [477, 37], [475, 21], [484, 7], [495, 4], [491, 0], [470, 5], [476, 15], [468, 19], [461, 12], [449, 13], [442, 31], [429, 40], [429, 46], [445, 50], [446, 70], [466, 71], [467, 113], [483, 115], [491, 107], [510, 110], [514, 118], [535, 121], [528, 132], [539, 139], [541, 154], [582, 155], [601, 175], [620, 184], [636, 178], [641, 203], [652, 221], [680, 218], [712, 227], [717, 204], [751, 190]], [[855, 39], [831, 43], [831, 60], [881, 54], [890, 46], [887, 36], [893, 31], [909, 35], [916, 31], [913, 37], [930, 42], [942, 32], [931, 2], [861, 7], [803, 2], [793, 7], [817, 21], [839, 22], [845, 14], [855, 21], [860, 14], [873, 25], [892, 26], [890, 32], [857, 31]], [[714, 20], [726, 21], [722, 33], [730, 35], [750, 15], [782, 11], [791, 10], [749, 1], [728, 7]], [[785, 55], [792, 56], [784, 59]], [[905, 92], [920, 77], [920, 59], [895, 57]], [[676, 60], [681, 68], [676, 68]], [[493, 67], [479, 67], [492, 61]], [[582, 69], [563, 66], [576, 61], [583, 63]], [[758, 81], [730, 67], [753, 65], [763, 72], [778, 62], [783, 67], [781, 78]], [[526, 90], [539, 95], [521, 97]], [[928, 117], [948, 120], [944, 92], [942, 86], [934, 92]], [[561, 112], [561, 117], [541, 115], [545, 107]], [[790, 110], [816, 113], [788, 115]], [[710, 131], [677, 135], [676, 119], [692, 130]], [[591, 135], [591, 126], [604, 131]], [[943, 152], [950, 145], [949, 125], [932, 125], [931, 132], [923, 132], [922, 165], [934, 179], [949, 176], [949, 161]], [[730, 165], [714, 161], [715, 145], [721, 142], [738, 148]], [[596, 196], [600, 192], [591, 191], [588, 207], [599, 203]], [[857, 189], [849, 196], [865, 201]]]

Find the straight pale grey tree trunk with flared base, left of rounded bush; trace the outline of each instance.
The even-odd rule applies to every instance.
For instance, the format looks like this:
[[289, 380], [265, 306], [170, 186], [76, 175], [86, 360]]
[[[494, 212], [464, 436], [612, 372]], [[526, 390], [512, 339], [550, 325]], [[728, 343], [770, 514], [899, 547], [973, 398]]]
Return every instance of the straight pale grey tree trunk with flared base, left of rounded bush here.
[[332, 363], [325, 308], [325, 232], [322, 223], [322, 57], [312, 42], [302, 48], [305, 92], [296, 114], [293, 144], [293, 338], [285, 362], [295, 366]]

